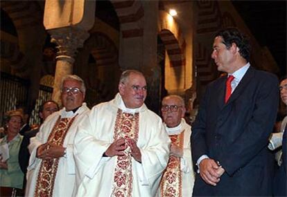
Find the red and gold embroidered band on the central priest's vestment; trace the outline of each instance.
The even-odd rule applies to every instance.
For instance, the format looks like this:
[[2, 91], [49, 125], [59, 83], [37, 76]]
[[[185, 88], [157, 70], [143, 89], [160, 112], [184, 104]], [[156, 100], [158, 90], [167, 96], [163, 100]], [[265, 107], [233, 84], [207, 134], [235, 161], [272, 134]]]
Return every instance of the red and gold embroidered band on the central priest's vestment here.
[[[123, 113], [121, 109], [116, 114], [116, 124], [114, 126], [114, 140], [125, 138], [133, 139], [137, 142], [139, 135], [139, 113]], [[112, 196], [124, 197], [132, 196], [132, 156], [125, 149], [124, 156], [116, 157], [116, 167], [114, 169], [114, 182]]]

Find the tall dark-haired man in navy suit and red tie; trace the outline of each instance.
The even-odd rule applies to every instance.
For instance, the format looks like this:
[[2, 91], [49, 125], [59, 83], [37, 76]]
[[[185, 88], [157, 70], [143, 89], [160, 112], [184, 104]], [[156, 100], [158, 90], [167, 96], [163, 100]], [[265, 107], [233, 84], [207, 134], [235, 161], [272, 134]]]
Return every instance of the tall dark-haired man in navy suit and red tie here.
[[250, 66], [250, 43], [236, 28], [218, 32], [213, 48], [218, 71], [227, 75], [207, 86], [193, 123], [193, 196], [270, 196], [267, 145], [277, 115], [277, 77]]

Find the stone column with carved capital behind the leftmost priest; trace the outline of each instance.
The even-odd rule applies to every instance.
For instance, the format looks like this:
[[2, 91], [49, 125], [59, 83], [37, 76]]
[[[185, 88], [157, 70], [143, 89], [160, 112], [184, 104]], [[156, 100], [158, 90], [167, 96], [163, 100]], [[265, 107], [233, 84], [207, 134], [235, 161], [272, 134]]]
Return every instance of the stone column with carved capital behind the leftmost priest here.
[[49, 32], [52, 37], [51, 41], [58, 45], [52, 99], [60, 104], [60, 84], [62, 78], [73, 74], [73, 62], [75, 62], [74, 57], [77, 48], [82, 48], [85, 39], [89, 37], [89, 33], [86, 30], [71, 27], [50, 30]]

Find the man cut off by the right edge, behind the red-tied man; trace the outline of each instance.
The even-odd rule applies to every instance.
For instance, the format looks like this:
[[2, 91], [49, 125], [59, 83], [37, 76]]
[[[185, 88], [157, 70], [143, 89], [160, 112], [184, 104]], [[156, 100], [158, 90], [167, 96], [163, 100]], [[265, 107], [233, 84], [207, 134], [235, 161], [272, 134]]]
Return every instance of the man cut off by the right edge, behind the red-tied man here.
[[[287, 76], [285, 76], [281, 80], [279, 90], [282, 102], [287, 105]], [[284, 118], [284, 120], [286, 118]], [[274, 196], [287, 196], [287, 124], [283, 127], [283, 132], [284, 134], [282, 138], [282, 156], [280, 158], [281, 165], [275, 173], [275, 178], [273, 182]]]

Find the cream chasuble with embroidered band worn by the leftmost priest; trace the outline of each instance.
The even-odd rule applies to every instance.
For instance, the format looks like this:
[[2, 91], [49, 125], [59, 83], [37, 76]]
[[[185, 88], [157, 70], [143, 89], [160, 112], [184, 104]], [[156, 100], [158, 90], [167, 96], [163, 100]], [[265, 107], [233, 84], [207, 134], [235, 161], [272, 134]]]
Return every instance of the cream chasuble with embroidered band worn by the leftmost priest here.
[[[82, 121], [89, 109], [86, 104], [73, 113], [62, 109], [49, 115], [40, 127], [35, 138], [28, 146], [31, 152], [27, 171], [25, 196], [64, 196], [72, 195], [75, 184], [73, 160], [73, 139], [76, 126]], [[36, 157], [37, 147], [52, 142], [66, 148], [67, 157], [42, 160]]]

